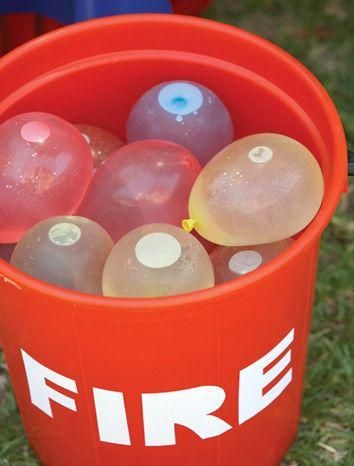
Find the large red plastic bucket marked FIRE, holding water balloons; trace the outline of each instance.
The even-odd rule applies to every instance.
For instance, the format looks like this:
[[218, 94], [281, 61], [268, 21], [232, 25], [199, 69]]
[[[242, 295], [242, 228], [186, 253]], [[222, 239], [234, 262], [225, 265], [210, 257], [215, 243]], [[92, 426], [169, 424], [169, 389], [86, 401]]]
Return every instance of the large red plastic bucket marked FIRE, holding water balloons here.
[[3, 349], [44, 465], [279, 464], [300, 416], [320, 237], [346, 185], [343, 130], [324, 89], [263, 39], [159, 15], [63, 28], [5, 57], [0, 78], [1, 121], [42, 110], [121, 137], [144, 90], [194, 80], [220, 95], [237, 137], [276, 131], [314, 152], [326, 185], [318, 215], [284, 254], [237, 281], [110, 299], [0, 261]]

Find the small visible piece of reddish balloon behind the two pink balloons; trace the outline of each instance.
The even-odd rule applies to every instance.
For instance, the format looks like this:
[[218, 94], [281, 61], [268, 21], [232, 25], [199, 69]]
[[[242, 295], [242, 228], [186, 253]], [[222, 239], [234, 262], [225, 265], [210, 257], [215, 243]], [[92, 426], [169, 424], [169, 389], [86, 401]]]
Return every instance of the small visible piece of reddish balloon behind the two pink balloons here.
[[123, 141], [105, 129], [93, 125], [77, 124], [75, 126], [90, 146], [94, 168], [98, 168], [112, 152], [124, 146]]

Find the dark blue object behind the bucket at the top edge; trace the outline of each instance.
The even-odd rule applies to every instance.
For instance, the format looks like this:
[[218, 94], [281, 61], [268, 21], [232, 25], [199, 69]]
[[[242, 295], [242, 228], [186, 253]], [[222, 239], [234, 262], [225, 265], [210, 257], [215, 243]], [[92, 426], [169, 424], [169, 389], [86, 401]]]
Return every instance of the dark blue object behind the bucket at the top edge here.
[[0, 0], [2, 13], [37, 13], [63, 24], [125, 13], [172, 13], [169, 0]]

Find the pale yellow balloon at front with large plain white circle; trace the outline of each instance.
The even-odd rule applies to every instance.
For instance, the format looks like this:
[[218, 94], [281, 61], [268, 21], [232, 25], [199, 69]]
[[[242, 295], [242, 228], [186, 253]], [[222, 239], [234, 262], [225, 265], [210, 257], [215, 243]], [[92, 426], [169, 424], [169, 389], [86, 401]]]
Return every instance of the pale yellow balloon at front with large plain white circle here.
[[213, 267], [203, 246], [167, 224], [129, 232], [113, 248], [103, 272], [105, 296], [171, 296], [213, 285]]

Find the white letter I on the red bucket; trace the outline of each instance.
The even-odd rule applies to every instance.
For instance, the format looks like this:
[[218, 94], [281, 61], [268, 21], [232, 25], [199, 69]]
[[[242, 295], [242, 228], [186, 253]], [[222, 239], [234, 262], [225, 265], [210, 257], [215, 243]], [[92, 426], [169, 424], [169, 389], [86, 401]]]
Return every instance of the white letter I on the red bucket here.
[[122, 392], [93, 389], [100, 440], [117, 445], [131, 445]]

